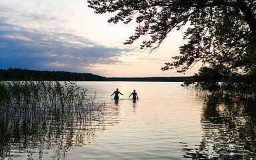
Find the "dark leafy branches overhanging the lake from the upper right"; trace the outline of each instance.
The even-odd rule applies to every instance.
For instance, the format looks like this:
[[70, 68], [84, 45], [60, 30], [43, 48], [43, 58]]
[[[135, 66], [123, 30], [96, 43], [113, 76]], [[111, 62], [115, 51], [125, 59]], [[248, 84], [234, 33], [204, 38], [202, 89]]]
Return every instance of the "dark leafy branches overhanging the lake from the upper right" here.
[[[145, 36], [141, 49], [159, 47], [168, 33], [185, 26], [185, 45], [162, 70], [185, 72], [201, 61], [213, 70], [251, 75], [256, 69], [255, 0], [89, 0], [95, 13], [113, 13], [108, 21], [136, 21], [125, 44]], [[205, 68], [206, 69], [206, 68]]]

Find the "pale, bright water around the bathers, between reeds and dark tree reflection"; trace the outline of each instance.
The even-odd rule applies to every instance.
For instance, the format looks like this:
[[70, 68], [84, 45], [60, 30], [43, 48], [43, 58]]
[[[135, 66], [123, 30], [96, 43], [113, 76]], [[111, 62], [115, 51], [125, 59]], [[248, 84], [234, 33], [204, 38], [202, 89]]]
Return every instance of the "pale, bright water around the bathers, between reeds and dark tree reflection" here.
[[[79, 83], [94, 89], [110, 113], [106, 130], [95, 142], [73, 150], [74, 155], [81, 159], [182, 159], [183, 148], [194, 148], [201, 141], [203, 97], [180, 84]], [[116, 88], [124, 94], [118, 103], [110, 97]], [[136, 103], [127, 99], [133, 89], [139, 95]]]

